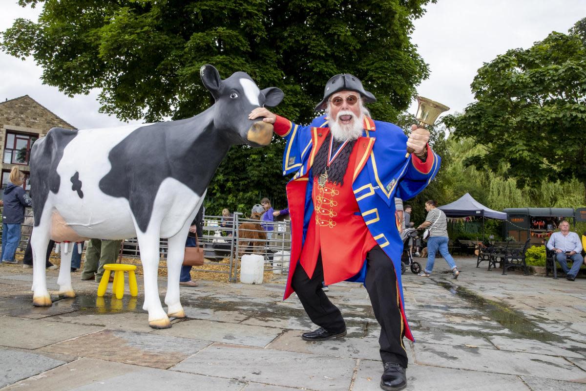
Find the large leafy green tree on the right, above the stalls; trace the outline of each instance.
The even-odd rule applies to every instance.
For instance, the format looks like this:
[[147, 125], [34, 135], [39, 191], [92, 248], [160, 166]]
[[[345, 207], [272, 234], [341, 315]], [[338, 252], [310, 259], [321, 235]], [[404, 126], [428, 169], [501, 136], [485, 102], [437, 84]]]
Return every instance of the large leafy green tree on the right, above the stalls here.
[[500, 172], [519, 188], [574, 178], [586, 186], [586, 47], [579, 35], [553, 32], [529, 49], [509, 50], [485, 63], [471, 87], [476, 101], [444, 119], [456, 137], [482, 145], [466, 165]]

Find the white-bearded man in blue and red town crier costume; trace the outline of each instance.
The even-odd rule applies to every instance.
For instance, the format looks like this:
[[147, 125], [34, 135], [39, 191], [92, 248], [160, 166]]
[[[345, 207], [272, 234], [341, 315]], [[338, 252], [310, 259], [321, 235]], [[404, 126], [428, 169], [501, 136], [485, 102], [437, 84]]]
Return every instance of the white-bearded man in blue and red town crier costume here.
[[[291, 266], [284, 299], [297, 293], [318, 329], [306, 341], [346, 335], [338, 308], [322, 291], [343, 280], [360, 281], [368, 291], [380, 324], [380, 386], [407, 386], [403, 336], [413, 340], [403, 308], [401, 251], [394, 198], [413, 198], [434, 178], [440, 158], [427, 144], [429, 132], [413, 125], [407, 138], [401, 128], [373, 121], [364, 103], [376, 101], [351, 74], [328, 81], [316, 111], [326, 115], [302, 127], [255, 108], [287, 140], [283, 175], [292, 224]], [[415, 150], [406, 157], [406, 148]]]

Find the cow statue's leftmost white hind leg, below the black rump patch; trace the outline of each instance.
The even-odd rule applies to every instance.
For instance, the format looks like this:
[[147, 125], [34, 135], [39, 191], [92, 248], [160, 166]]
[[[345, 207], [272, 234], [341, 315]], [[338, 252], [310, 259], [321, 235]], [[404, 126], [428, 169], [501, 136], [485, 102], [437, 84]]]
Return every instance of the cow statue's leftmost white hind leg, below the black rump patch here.
[[33, 250], [33, 305], [36, 307], [50, 307], [51, 296], [47, 291], [47, 276], [45, 274], [45, 257], [49, 246], [49, 222], [47, 210], [44, 211], [40, 224], [33, 228], [30, 235], [30, 247]]

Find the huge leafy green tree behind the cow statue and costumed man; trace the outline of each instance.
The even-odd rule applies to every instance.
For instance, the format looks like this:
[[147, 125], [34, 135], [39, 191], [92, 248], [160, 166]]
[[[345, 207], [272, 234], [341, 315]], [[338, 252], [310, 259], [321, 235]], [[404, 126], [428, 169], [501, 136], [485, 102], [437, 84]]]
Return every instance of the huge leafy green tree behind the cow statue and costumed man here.
[[[100, 89], [104, 113], [149, 122], [191, 117], [212, 103], [199, 78], [210, 63], [224, 77], [240, 70], [261, 88], [281, 88], [277, 113], [308, 123], [325, 82], [342, 72], [378, 98], [374, 118], [395, 120], [428, 76], [410, 34], [435, 0], [18, 2], [43, 10], [36, 22], [17, 19], [2, 49], [33, 56], [43, 83], [70, 96]], [[212, 210], [283, 193], [285, 181], [273, 179], [281, 151], [279, 142], [263, 152], [233, 148], [211, 185]]]

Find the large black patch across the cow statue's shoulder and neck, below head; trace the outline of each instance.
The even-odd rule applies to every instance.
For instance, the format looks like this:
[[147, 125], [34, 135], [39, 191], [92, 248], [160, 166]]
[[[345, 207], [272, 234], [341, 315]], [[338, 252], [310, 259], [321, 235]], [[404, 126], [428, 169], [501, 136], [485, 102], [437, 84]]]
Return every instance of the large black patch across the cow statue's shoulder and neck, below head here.
[[100, 180], [100, 190], [127, 199], [142, 232], [166, 178], [200, 196], [212, 180], [231, 144], [223, 131], [213, 127], [212, 115], [208, 109], [186, 120], [137, 128], [108, 154], [112, 168]]

